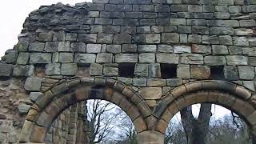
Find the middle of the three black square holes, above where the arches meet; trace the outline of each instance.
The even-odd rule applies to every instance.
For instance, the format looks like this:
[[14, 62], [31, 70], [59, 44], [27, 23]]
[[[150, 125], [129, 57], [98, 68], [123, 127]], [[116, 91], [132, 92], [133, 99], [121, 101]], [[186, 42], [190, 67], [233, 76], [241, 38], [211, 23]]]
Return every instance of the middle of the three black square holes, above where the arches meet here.
[[161, 64], [162, 78], [176, 78], [177, 77], [177, 65], [173, 64]]

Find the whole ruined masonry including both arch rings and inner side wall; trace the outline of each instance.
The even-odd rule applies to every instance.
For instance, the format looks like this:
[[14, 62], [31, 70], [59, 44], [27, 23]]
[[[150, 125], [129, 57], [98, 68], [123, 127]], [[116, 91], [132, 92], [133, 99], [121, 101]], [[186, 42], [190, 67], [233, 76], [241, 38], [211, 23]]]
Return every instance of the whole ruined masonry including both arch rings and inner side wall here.
[[78, 111], [98, 98], [126, 111], [139, 143], [163, 143], [170, 118], [198, 102], [256, 134], [255, 19], [255, 0], [41, 6], [0, 63], [0, 142], [85, 142]]

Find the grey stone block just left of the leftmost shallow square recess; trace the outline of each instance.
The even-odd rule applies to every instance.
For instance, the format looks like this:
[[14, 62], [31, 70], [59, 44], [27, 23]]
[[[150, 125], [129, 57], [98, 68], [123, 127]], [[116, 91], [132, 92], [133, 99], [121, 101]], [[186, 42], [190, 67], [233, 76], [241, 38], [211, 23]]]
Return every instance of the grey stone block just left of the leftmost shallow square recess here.
[[14, 66], [13, 75], [17, 77], [29, 77], [34, 74], [34, 66]]

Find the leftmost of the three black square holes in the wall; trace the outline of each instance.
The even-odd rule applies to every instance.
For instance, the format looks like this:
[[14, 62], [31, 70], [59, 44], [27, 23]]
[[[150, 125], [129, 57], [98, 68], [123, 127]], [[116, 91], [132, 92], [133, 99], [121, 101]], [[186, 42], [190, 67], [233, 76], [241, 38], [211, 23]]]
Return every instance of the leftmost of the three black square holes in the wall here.
[[119, 64], [119, 76], [126, 78], [134, 78], [134, 63], [120, 63]]

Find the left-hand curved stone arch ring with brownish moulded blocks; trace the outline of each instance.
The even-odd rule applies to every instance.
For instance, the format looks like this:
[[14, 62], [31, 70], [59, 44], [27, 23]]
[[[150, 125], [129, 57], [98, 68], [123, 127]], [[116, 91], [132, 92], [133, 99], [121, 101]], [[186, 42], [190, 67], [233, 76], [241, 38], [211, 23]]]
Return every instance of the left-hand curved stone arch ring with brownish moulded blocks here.
[[[104, 86], [104, 89], [94, 89], [93, 86]], [[54, 119], [72, 104], [87, 99], [113, 102], [126, 112], [138, 133], [147, 130], [144, 118], [151, 114], [151, 110], [129, 86], [110, 78], [75, 78], [54, 86], [34, 103], [26, 115], [20, 142], [44, 143]]]

